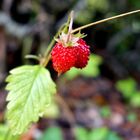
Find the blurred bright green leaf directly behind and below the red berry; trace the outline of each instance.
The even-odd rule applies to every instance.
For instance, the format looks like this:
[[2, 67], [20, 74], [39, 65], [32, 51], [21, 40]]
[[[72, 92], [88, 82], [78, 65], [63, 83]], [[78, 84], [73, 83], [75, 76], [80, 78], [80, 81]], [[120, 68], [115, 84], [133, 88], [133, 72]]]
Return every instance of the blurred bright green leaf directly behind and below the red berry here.
[[81, 69], [72, 68], [64, 76], [71, 80], [78, 75], [83, 75], [85, 77], [97, 77], [100, 75], [99, 65], [102, 63], [102, 58], [98, 55], [90, 55], [88, 65]]

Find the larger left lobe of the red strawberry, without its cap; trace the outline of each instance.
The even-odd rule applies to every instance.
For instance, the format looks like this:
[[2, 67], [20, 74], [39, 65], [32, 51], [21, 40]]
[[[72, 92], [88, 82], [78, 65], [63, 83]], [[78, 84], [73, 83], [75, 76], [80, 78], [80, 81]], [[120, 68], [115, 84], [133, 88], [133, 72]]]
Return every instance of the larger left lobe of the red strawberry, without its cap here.
[[52, 52], [53, 68], [58, 73], [64, 73], [74, 66], [76, 57], [75, 47], [65, 47], [62, 43], [56, 43]]

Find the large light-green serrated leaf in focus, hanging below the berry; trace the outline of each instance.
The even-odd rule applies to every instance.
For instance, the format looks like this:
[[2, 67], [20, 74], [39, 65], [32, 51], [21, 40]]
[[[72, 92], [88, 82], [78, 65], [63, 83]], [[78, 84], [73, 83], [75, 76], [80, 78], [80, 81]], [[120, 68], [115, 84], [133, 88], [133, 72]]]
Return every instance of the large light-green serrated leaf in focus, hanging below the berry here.
[[6, 117], [12, 133], [21, 134], [44, 114], [56, 93], [56, 85], [49, 71], [40, 65], [15, 68], [6, 82], [9, 91]]

